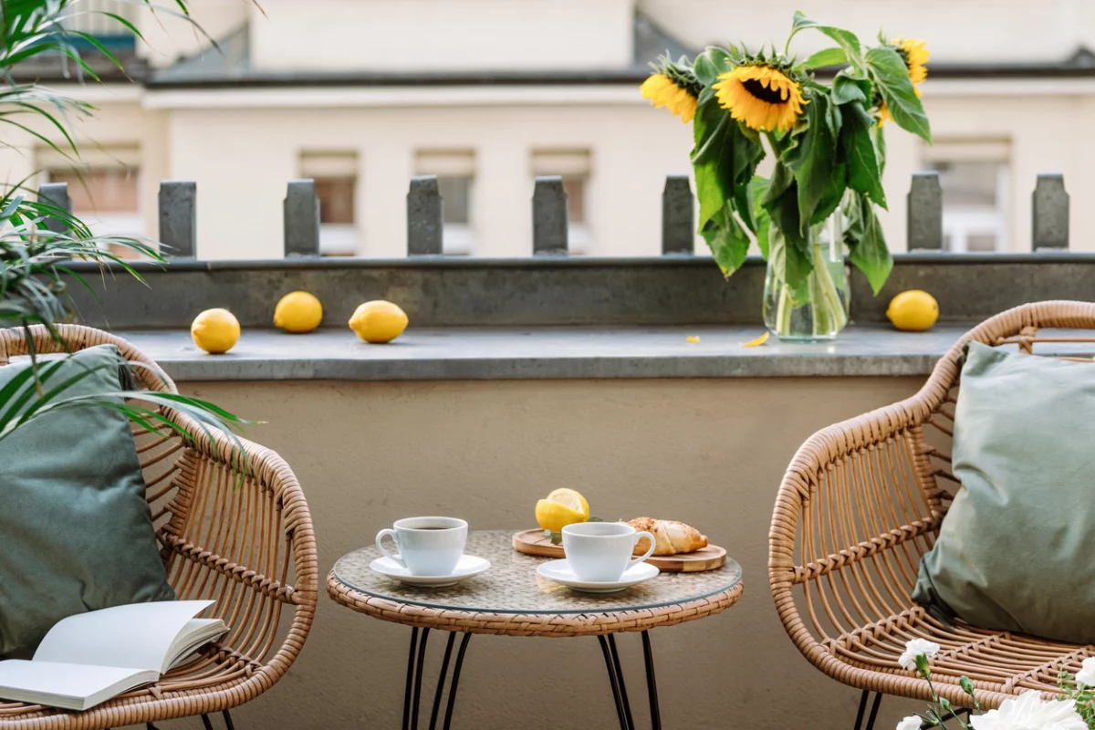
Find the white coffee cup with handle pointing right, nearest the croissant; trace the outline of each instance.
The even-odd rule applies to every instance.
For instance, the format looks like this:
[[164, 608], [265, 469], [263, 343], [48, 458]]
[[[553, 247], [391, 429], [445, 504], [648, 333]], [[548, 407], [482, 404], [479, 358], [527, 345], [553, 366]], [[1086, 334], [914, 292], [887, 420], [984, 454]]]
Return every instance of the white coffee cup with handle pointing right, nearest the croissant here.
[[[643, 537], [650, 541], [646, 555], [632, 559], [635, 545]], [[654, 554], [654, 535], [636, 532], [623, 522], [578, 522], [563, 528], [563, 552], [578, 580], [611, 583], [624, 571]]]

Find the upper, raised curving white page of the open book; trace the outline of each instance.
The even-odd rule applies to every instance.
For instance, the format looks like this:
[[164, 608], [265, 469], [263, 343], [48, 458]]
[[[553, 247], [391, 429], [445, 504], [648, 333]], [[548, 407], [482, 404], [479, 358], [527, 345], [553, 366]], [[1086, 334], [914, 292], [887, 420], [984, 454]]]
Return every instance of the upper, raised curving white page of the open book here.
[[132, 603], [69, 616], [49, 629], [34, 652], [34, 661], [159, 672], [180, 631], [212, 603]]

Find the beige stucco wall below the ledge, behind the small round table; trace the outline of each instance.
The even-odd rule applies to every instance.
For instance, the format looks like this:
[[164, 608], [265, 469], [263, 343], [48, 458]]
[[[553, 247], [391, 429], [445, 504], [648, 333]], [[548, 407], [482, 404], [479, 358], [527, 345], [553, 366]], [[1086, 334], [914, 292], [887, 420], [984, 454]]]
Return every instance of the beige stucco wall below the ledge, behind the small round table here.
[[[551, 489], [580, 489], [595, 513], [677, 518], [745, 568], [728, 612], [652, 634], [666, 727], [851, 727], [858, 693], [791, 644], [768, 589], [766, 537], [780, 478], [817, 428], [911, 394], [919, 379], [182, 383], [252, 418], [249, 436], [300, 479], [321, 571], [393, 520], [459, 514], [526, 528]], [[315, 625], [280, 684], [238, 714], [241, 728], [397, 727], [410, 631], [321, 595]], [[436, 677], [443, 641], [430, 641]], [[645, 717], [642, 649], [624, 635], [629, 690]], [[592, 639], [474, 637], [454, 726], [612, 728]], [[884, 703], [878, 727], [918, 704]], [[638, 720], [639, 727], [646, 720]]]

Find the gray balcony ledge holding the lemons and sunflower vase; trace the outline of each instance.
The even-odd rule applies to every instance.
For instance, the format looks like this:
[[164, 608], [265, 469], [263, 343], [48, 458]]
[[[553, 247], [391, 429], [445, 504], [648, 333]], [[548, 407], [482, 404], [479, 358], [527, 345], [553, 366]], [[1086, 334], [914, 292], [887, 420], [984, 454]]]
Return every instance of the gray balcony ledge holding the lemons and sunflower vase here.
[[197, 349], [186, 332], [118, 334], [187, 382], [925, 375], [967, 329], [863, 325], [831, 344], [772, 338], [762, 347], [742, 347], [762, 333], [756, 326], [411, 329], [390, 345], [367, 345], [342, 328], [246, 331], [219, 356]]

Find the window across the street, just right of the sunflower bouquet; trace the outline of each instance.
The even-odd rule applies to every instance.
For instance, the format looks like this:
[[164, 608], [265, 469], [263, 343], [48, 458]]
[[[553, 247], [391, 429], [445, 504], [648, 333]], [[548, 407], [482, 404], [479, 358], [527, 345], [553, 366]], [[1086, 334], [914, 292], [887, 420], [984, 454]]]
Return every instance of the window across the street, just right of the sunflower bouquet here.
[[1011, 144], [1006, 140], [936, 141], [924, 149], [924, 169], [940, 174], [945, 250], [1008, 250]]

